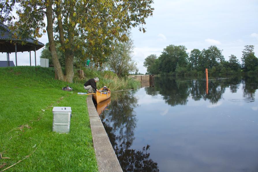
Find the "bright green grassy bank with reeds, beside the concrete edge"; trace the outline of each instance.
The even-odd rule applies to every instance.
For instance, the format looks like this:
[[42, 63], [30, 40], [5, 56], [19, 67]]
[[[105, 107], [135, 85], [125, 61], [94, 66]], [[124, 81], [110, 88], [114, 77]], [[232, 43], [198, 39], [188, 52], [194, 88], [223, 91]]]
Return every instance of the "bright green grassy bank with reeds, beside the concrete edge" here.
[[[0, 73], [0, 153], [6, 157], [0, 171], [13, 164], [11, 171], [97, 171], [86, 96], [77, 95], [85, 81], [75, 76], [68, 92], [61, 90], [67, 83], [53, 79], [53, 68], [18, 66]], [[108, 72], [85, 74], [100, 77], [98, 86], [124, 87], [112, 86], [117, 83]], [[52, 132], [53, 106], [72, 108], [69, 134]]]

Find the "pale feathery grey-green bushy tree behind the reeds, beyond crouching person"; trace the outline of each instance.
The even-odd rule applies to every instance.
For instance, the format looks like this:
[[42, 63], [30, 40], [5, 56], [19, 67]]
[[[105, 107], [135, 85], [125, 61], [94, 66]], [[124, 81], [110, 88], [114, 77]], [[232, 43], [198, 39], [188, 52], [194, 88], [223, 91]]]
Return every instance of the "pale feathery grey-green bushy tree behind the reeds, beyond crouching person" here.
[[133, 42], [119, 42], [115, 45], [113, 52], [108, 56], [107, 67], [119, 77], [128, 76], [130, 72], [137, 70], [137, 63], [132, 60]]

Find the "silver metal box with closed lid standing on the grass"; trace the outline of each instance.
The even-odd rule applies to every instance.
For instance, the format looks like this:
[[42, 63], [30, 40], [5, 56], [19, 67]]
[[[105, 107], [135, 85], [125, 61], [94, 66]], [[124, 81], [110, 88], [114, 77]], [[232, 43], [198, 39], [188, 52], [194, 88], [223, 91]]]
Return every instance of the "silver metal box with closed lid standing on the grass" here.
[[58, 133], [70, 132], [71, 107], [53, 107], [53, 128]]

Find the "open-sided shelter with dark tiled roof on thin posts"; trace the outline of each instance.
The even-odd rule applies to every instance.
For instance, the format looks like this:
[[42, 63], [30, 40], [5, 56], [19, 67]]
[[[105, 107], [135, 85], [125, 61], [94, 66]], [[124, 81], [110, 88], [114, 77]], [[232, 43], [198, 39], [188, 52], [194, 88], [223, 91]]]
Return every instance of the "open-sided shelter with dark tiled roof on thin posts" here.
[[[25, 43], [25, 44], [22, 44]], [[36, 51], [45, 46], [32, 38], [25, 38], [24, 40], [14, 39], [14, 32], [8, 29], [7, 25], [0, 23], [0, 52], [7, 54], [8, 66], [10, 66], [10, 53], [15, 52], [15, 64], [17, 66], [17, 52], [28, 51], [31, 66], [31, 51], [35, 52], [35, 66], [36, 66]]]

